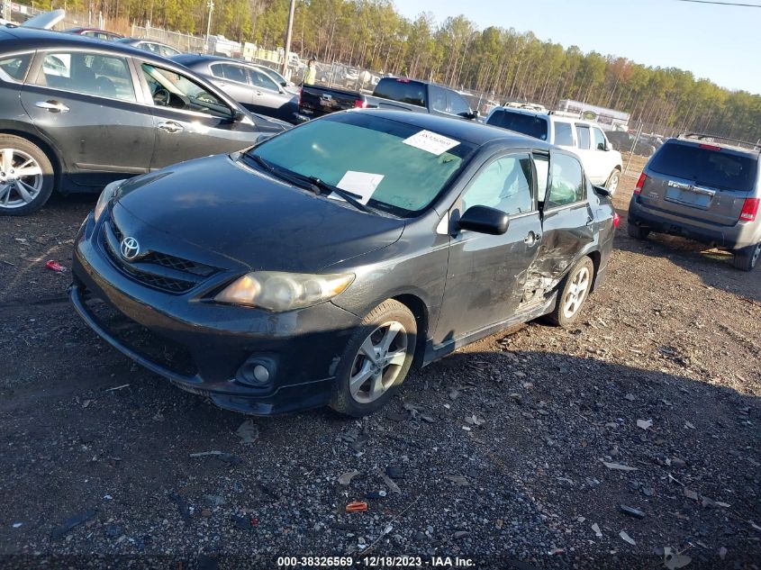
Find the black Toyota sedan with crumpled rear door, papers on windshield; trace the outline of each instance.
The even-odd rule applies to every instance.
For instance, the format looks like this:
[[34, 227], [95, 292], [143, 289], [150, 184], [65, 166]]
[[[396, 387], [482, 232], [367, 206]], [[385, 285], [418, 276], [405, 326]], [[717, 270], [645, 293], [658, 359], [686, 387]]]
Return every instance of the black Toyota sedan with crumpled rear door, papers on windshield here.
[[469, 342], [573, 322], [617, 225], [578, 158], [540, 140], [333, 113], [107, 186], [70, 294], [113, 347], [223, 408], [361, 416]]

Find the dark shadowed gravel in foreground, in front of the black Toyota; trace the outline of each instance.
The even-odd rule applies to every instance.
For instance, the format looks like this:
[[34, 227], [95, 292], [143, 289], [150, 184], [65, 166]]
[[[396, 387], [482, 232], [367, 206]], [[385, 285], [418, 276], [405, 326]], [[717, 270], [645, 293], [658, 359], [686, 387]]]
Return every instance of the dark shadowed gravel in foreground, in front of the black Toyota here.
[[[93, 340], [38, 385], [3, 390], [0, 553], [274, 567], [276, 555], [357, 556], [377, 540], [376, 555], [479, 568], [657, 567], [663, 547], [686, 548], [695, 568], [761, 558], [761, 405], [720, 385], [593, 357], [463, 352], [412, 375], [374, 416], [254, 418], [247, 444], [245, 416]], [[345, 512], [357, 500], [368, 512]]]

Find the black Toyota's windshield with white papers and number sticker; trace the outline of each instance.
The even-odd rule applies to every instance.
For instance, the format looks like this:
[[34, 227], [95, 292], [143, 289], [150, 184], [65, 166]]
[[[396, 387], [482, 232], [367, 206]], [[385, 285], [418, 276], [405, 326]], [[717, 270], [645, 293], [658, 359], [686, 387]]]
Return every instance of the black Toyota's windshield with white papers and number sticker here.
[[404, 122], [341, 113], [306, 122], [249, 152], [338, 186], [361, 204], [410, 217], [433, 202], [475, 149]]

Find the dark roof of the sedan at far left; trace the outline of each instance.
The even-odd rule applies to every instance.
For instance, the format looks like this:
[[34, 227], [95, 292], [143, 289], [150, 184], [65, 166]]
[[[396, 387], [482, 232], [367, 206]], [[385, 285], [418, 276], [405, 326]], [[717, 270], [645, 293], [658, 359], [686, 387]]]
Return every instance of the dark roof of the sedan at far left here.
[[0, 27], [0, 51], [46, 50], [50, 48], [86, 49], [87, 47], [99, 51], [137, 56], [140, 59], [154, 61], [161, 65], [166, 65], [167, 61], [167, 59], [154, 56], [149, 51], [140, 50], [126, 43], [100, 41], [75, 33], [52, 32], [34, 28]]

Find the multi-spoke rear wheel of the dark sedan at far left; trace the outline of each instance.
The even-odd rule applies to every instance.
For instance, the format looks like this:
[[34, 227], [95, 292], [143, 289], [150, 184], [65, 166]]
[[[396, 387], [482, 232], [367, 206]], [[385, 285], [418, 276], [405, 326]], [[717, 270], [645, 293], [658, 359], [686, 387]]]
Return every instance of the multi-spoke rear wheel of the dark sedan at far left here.
[[[20, 171], [28, 173], [20, 175]], [[50, 158], [40, 147], [14, 135], [0, 135], [0, 215], [37, 212], [55, 185]]]

